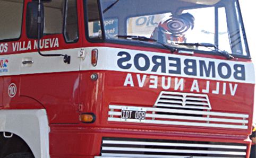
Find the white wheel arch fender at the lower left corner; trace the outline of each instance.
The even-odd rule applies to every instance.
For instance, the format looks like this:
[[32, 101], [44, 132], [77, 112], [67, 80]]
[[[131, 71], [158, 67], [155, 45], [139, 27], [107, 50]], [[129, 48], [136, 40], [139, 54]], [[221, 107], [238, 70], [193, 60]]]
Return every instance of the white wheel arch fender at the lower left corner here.
[[[50, 157], [49, 131], [45, 109], [0, 110], [0, 133], [20, 137], [35, 157]], [[4, 145], [4, 142], [0, 141], [0, 146]]]

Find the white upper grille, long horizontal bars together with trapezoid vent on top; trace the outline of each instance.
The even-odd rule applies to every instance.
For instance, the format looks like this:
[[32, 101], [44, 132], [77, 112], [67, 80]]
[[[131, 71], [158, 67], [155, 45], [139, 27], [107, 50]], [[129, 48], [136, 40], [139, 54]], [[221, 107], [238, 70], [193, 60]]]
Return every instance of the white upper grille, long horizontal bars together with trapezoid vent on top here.
[[[123, 107], [143, 108], [146, 119], [137, 124], [212, 127], [222, 129], [248, 129], [249, 115], [215, 111], [206, 94], [161, 92], [151, 107], [109, 105], [108, 121], [122, 122]], [[127, 122], [128, 123], [128, 122]]]

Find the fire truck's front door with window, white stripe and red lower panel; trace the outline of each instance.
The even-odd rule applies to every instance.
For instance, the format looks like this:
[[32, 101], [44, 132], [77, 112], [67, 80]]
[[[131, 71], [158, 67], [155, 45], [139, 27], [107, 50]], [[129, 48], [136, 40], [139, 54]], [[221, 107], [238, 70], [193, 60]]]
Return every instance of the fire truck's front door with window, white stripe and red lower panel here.
[[[75, 0], [44, 4], [44, 37], [23, 41], [26, 53], [20, 58], [22, 96], [33, 98], [47, 110], [50, 124], [79, 122], [79, 39]], [[23, 45], [22, 45], [23, 46]], [[70, 56], [70, 63], [64, 56]]]

